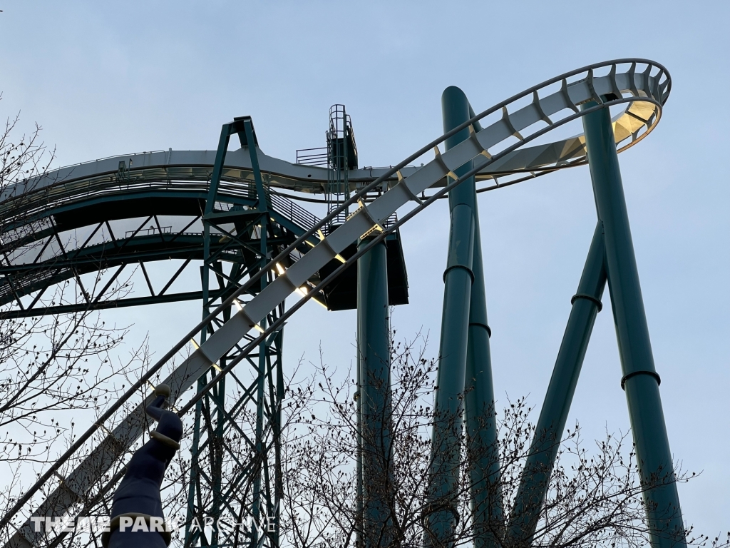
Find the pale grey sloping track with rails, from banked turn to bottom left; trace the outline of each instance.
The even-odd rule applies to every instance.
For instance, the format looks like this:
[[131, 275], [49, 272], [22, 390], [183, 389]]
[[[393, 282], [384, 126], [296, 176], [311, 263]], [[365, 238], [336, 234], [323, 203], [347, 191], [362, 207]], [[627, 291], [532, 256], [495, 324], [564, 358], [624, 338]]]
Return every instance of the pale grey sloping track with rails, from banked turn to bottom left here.
[[[596, 72], [606, 72], [601, 76], [597, 76]], [[558, 84], [557, 91], [545, 93], [540, 96], [540, 91], [545, 92], [546, 88], [553, 89]], [[166, 365], [170, 359], [187, 346], [188, 341], [196, 335], [201, 328], [209, 321], [215, 319], [223, 310], [231, 306], [239, 306], [240, 309], [229, 321], [220, 327], [199, 349], [193, 352], [187, 359], [182, 360], [173, 373], [165, 379], [167, 384], [172, 386], [174, 394], [180, 395], [185, 389], [192, 386], [193, 382], [201, 376], [201, 374], [210, 368], [212, 364], [218, 362], [221, 356], [243, 339], [250, 342], [242, 349], [239, 357], [232, 360], [226, 368], [224, 368], [218, 376], [216, 376], [209, 384], [207, 389], [215, 384], [215, 382], [223, 376], [228, 370], [231, 370], [236, 363], [245, 357], [247, 352], [251, 351], [264, 340], [272, 332], [280, 329], [283, 322], [296, 313], [310, 297], [310, 294], [301, 297], [291, 306], [287, 313], [274, 322], [270, 327], [262, 329], [260, 323], [266, 318], [269, 312], [273, 311], [287, 297], [290, 297], [296, 289], [306, 283], [307, 279], [312, 277], [321, 267], [326, 265], [332, 259], [337, 259], [339, 254], [351, 243], [356, 241], [358, 237], [373, 232], [379, 232], [379, 235], [373, 240], [371, 245], [377, 243], [378, 240], [385, 237], [388, 232], [397, 229], [401, 224], [407, 222], [410, 218], [420, 213], [428, 207], [436, 199], [446, 194], [446, 192], [458, 185], [461, 180], [465, 180], [472, 175], [484, 177], [485, 173], [504, 172], [506, 167], [513, 170], [557, 170], [562, 167], [580, 164], [585, 157], [585, 148], [583, 146], [583, 137], [572, 137], [570, 140], [548, 143], [547, 145], [532, 146], [525, 148], [529, 142], [539, 139], [553, 129], [564, 126], [566, 123], [577, 120], [580, 116], [591, 113], [594, 110], [612, 106], [625, 106], [626, 110], [619, 115], [614, 123], [617, 136], [618, 149], [625, 150], [629, 146], [635, 144], [645, 137], [658, 123], [661, 117], [661, 107], [666, 102], [671, 88], [671, 80], [669, 73], [663, 66], [642, 59], [621, 59], [617, 61], [608, 61], [602, 64], [586, 66], [573, 72], [566, 73], [559, 77], [548, 80], [545, 83], [530, 88], [522, 94], [512, 96], [507, 101], [497, 104], [491, 109], [485, 110], [483, 113], [476, 115], [468, 122], [453, 129], [453, 131], [444, 134], [437, 140], [429, 143], [400, 164], [383, 172], [380, 177], [361, 187], [358, 192], [342, 205], [339, 210], [333, 211], [328, 217], [324, 218], [318, 227], [313, 227], [306, 234], [301, 235], [298, 240], [285, 249], [279, 256], [272, 259], [269, 266], [262, 269], [258, 275], [253, 276], [245, 283], [237, 292], [232, 295], [226, 302], [223, 302], [213, 313], [204, 319], [201, 324], [196, 326], [188, 335], [180, 340], [174, 348], [168, 352], [150, 371], [145, 374], [126, 394], [113, 404], [99, 422], [87, 430], [80, 436], [78, 441], [72, 446], [66, 454], [62, 455], [59, 460], [54, 463], [38, 480], [31, 490], [26, 492], [22, 498], [15, 504], [9, 514], [3, 518], [0, 525], [7, 526], [9, 520], [15, 516], [24, 505], [31, 500], [31, 497], [49, 481], [58, 471], [63, 463], [73, 457], [74, 453], [80, 449], [91, 436], [102, 427], [104, 421], [118, 411], [118, 409], [138, 393], [140, 387], [161, 368]], [[515, 109], [510, 113], [510, 106], [520, 102], [524, 104], [525, 99], [532, 98], [532, 101], [526, 106]], [[580, 111], [577, 105], [589, 101], [597, 102], [597, 106], [588, 110]], [[502, 113], [502, 117], [498, 121], [490, 123], [480, 131], [478, 122], [487, 118], [493, 113]], [[468, 140], [461, 142], [459, 145], [451, 148], [449, 151], [440, 153], [438, 145], [447, 137], [456, 134], [462, 129], [469, 127], [470, 137]], [[511, 144], [510, 144], [511, 143]], [[504, 145], [507, 145], [504, 148]], [[580, 146], [579, 146], [580, 145]], [[499, 153], [491, 152], [490, 149], [502, 147]], [[434, 150], [434, 159], [429, 161], [420, 169], [413, 171], [408, 175], [404, 175], [404, 167], [412, 163], [424, 153]], [[518, 161], [519, 160], [519, 161]], [[453, 172], [469, 161], [473, 161], [474, 168], [464, 175], [461, 179], [456, 178]], [[212, 162], [211, 162], [212, 164]], [[516, 167], [521, 165], [523, 167]], [[262, 161], [262, 170], [265, 170], [265, 164]], [[302, 167], [302, 169], [313, 169], [310, 167]], [[314, 246], [307, 254], [288, 267], [282, 275], [277, 277], [272, 283], [259, 294], [255, 295], [245, 305], [240, 305], [237, 301], [239, 295], [253, 284], [262, 273], [271, 270], [283, 259], [293, 248], [299, 246], [307, 238], [318, 233], [318, 229], [341, 213], [349, 205], [355, 205], [364, 195], [382, 186], [388, 180], [397, 180], [397, 183], [389, 185], [390, 189], [375, 199], [368, 205], [360, 203], [360, 208], [350, 215], [345, 224], [324, 237], [320, 243]], [[447, 181], [447, 183], [444, 183]], [[66, 183], [64, 183], [66, 184]], [[429, 199], [422, 199], [420, 196], [426, 189], [433, 189], [439, 184], [441, 186]], [[38, 186], [33, 190], [38, 191]], [[405, 205], [413, 202], [412, 209], [406, 213], [399, 210]], [[399, 221], [391, 225], [388, 229], [382, 230], [385, 219], [388, 219], [393, 213], [399, 212]], [[358, 254], [349, 259], [345, 264], [341, 265], [337, 271], [332, 273], [320, 285], [328, 283], [331, 278], [337, 276], [351, 262], [356, 261], [358, 256], [364, 254], [368, 247], [361, 248]], [[253, 330], [261, 330], [255, 336], [250, 335]], [[126, 449], [139, 438], [139, 435], [145, 430], [144, 425], [144, 408], [152, 396], [139, 403], [139, 406], [128, 414], [122, 420], [104, 441], [91, 451], [91, 454], [82, 461], [77, 468], [64, 479], [64, 482], [50, 494], [39, 506], [34, 508], [34, 515], [63, 515], [64, 511], [70, 509], [74, 503], [80, 501], [80, 494], [88, 492], [92, 485], [101, 484], [101, 479], [111, 464], [126, 451]], [[188, 401], [180, 411], [184, 413], [193, 406], [193, 403], [200, 395], [193, 397]], [[29, 520], [23, 525], [13, 536], [8, 546], [10, 547], [31, 547], [34, 546], [36, 533], [33, 533]]]

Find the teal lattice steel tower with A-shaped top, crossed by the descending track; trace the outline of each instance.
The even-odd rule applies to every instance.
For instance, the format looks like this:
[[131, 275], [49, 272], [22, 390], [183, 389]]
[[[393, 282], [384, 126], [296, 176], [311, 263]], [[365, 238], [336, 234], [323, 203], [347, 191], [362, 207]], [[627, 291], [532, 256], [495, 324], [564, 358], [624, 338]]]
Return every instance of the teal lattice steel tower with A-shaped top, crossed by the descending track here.
[[[250, 248], [248, 257], [243, 254], [241, 263], [246, 266], [240, 269], [234, 265], [231, 270], [231, 279], [228, 285], [236, 284], [244, 275], [255, 275], [261, 267], [266, 265], [272, 248], [280, 246], [275, 227], [275, 217], [270, 208], [269, 200], [264, 189], [261, 171], [258, 168], [256, 155], [255, 134], [253, 123], [249, 117], [235, 118], [232, 123], [224, 124], [221, 129], [218, 151], [216, 153], [215, 165], [210, 181], [210, 190], [207, 194], [204, 210], [204, 265], [201, 267], [201, 283], [203, 294], [203, 317], [215, 308], [215, 302], [222, 302], [230, 291], [224, 291], [225, 282], [221, 281], [222, 267], [215, 256], [211, 245], [211, 228], [218, 227], [218, 221], [230, 222], [235, 219], [231, 212], [218, 212], [215, 210], [220, 175], [223, 171], [223, 162], [226, 158], [228, 142], [231, 135], [238, 134], [242, 147], [247, 147], [251, 156], [253, 173], [255, 179], [255, 211], [246, 212], [250, 222], [242, 227], [250, 231], [252, 235], [258, 233], [258, 249]], [[249, 145], [251, 143], [252, 145]], [[301, 227], [293, 227], [296, 232], [302, 232]], [[237, 230], [239, 232], [239, 230]], [[270, 235], [270, 236], [269, 236]], [[218, 278], [220, 291], [210, 292], [211, 274]], [[262, 276], [261, 283], [253, 293], [261, 291], [266, 286], [271, 276], [267, 273]], [[231, 286], [232, 287], [232, 286]], [[283, 313], [283, 306], [273, 313], [269, 321], [276, 321]], [[230, 311], [224, 313], [223, 321], [230, 319]], [[261, 327], [266, 327], [266, 320], [261, 322]], [[201, 343], [214, 332], [215, 326], [209, 324], [201, 331]], [[218, 529], [212, 529], [210, 539], [207, 538], [205, 530], [193, 528], [193, 520], [197, 519], [203, 523], [206, 517], [218, 520], [225, 511], [233, 514], [239, 522], [244, 522], [248, 517], [253, 518], [250, 530], [239, 530], [237, 534], [247, 536], [247, 544], [250, 547], [260, 548], [264, 545], [277, 547], [279, 536], [277, 528], [269, 530], [262, 528], [266, 520], [278, 522], [279, 501], [283, 494], [283, 479], [281, 476], [280, 458], [280, 421], [281, 421], [281, 399], [283, 397], [283, 371], [281, 364], [283, 350], [283, 330], [262, 342], [258, 347], [258, 354], [250, 354], [246, 361], [254, 372], [253, 384], [246, 385], [231, 372], [218, 381], [214, 389], [206, 392], [204, 397], [196, 403], [195, 418], [193, 422], [193, 446], [191, 451], [191, 472], [188, 484], [188, 514], [185, 522], [185, 546], [210, 546], [220, 547], [229, 543], [228, 539], [220, 536]], [[220, 359], [218, 366], [224, 368], [228, 359], [235, 355]], [[209, 378], [210, 376], [210, 378]], [[215, 376], [215, 371], [210, 370], [198, 381], [198, 390], [204, 390], [209, 380]], [[226, 378], [233, 378], [234, 383], [241, 389], [237, 400], [226, 400]], [[268, 386], [268, 391], [266, 387]], [[237, 419], [244, 413], [249, 405], [255, 406], [255, 425], [253, 427], [253, 439], [237, 425]], [[266, 425], [264, 424], [266, 422]], [[264, 440], [265, 427], [271, 426], [272, 442]], [[267, 428], [268, 430], [268, 428]], [[228, 451], [227, 436], [237, 433], [245, 441], [248, 451], [253, 454], [250, 463], [241, 463], [233, 452]], [[205, 438], [205, 439], [204, 439]], [[269, 463], [269, 454], [273, 452], [274, 462]], [[232, 477], [228, 477], [228, 484], [224, 486], [224, 467], [227, 459], [233, 459], [234, 471]], [[206, 471], [210, 466], [210, 471]], [[246, 489], [241, 489], [247, 486]], [[249, 492], [250, 500], [240, 500], [239, 492]], [[231, 500], [239, 498], [239, 506], [231, 504]]]

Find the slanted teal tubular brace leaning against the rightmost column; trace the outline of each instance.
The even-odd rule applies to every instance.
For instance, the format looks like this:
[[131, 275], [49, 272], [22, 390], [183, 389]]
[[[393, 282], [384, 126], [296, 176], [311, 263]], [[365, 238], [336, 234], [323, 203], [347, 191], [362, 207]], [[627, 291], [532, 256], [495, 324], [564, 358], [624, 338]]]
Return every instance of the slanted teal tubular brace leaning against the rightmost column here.
[[606, 286], [604, 255], [603, 224], [599, 221], [593, 232], [578, 290], [571, 300], [568, 324], [512, 507], [508, 529], [510, 546], [530, 546], [537, 526], [588, 340], [602, 308], [601, 297]]

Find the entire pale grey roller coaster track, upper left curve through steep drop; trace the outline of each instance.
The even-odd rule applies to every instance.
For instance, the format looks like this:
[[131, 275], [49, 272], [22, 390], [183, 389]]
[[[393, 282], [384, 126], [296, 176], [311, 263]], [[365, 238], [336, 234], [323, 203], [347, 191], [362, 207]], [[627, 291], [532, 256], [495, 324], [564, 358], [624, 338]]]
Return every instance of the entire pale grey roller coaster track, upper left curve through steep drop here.
[[[352, 173], [350, 181], [353, 185], [353, 196], [325, 218], [310, 220], [309, 224], [303, 223], [304, 227], [299, 231], [301, 233], [296, 240], [275, 256], [265, 268], [258, 270], [258, 273], [228, 295], [222, 305], [181, 338], [94, 425], [80, 435], [42, 473], [26, 494], [18, 499], [2, 518], [0, 526], [7, 527], [12, 518], [23, 509], [25, 514], [63, 515], [77, 505], [82, 500], [82, 495], [92, 486], [98, 487], [106, 482], [105, 488], [110, 487], [118, 479], [118, 475], [111, 480], [108, 477], [105, 480], [104, 476], [112, 464], [144, 433], [144, 408], [152, 395], [139, 402], [115, 427], [107, 430], [105, 423], [125, 404], [132, 403], [139, 390], [166, 365], [170, 366], [174, 358], [177, 358], [179, 365], [172, 368], [172, 373], [164, 382], [172, 387], [173, 395], [182, 395], [223, 354], [234, 346], [239, 346], [237, 357], [229, 360], [225, 367], [219, 368], [218, 374], [204, 389], [180, 408], [180, 414], [185, 414], [195, 406], [206, 390], [210, 390], [250, 351], [257, 348], [259, 343], [280, 330], [286, 319], [296, 313], [307, 300], [315, 297], [327, 283], [353, 265], [369, 248], [435, 200], [445, 196], [462, 180], [475, 175], [477, 180], [483, 181], [481, 190], [491, 190], [564, 167], [585, 164], [585, 140], [582, 134], [556, 142], [537, 143], [549, 132], [603, 108], [620, 107], [621, 112], [613, 118], [616, 146], [619, 151], [626, 150], [642, 140], [656, 126], [670, 88], [669, 73], [653, 61], [619, 59], [585, 66], [529, 88], [483, 113], [474, 115], [469, 121], [429, 142], [396, 166], [379, 171], [358, 170]], [[585, 110], [578, 108], [578, 105], [591, 101], [596, 104]], [[439, 151], [438, 146], [443, 141], [465, 128], [469, 128], [468, 140], [446, 152]], [[526, 146], [528, 144], [530, 146]], [[419, 168], [409, 167], [431, 151], [434, 158], [425, 165]], [[270, 194], [274, 194], [273, 189], [310, 194], [322, 191], [326, 172], [321, 168], [288, 164], [257, 152]], [[43, 178], [20, 183], [0, 197], [0, 218], [12, 212], [12, 216], [3, 221], [1, 237], [4, 252], [9, 256], [14, 246], [17, 249], [27, 245], [24, 235], [30, 235], [34, 231], [24, 227], [33, 223], [49, 222], [44, 219], [49, 218], [51, 211], [58, 213], [64, 208], [72, 209], [77, 203], [93, 203], [94, 199], [104, 195], [128, 197], [142, 193], [146, 196], [166, 197], [180, 193], [180, 196], [185, 194], [188, 197], [202, 198], [207, 192], [214, 156], [214, 151], [168, 151], [115, 156], [66, 167]], [[242, 205], [250, 199], [250, 194], [246, 194], [250, 193], [250, 187], [240, 183], [248, 183], [253, 178], [252, 164], [247, 156], [243, 150], [228, 153], [221, 176], [220, 192], [239, 199]], [[472, 169], [457, 178], [454, 175], [455, 170], [470, 161], [473, 162]], [[510, 175], [511, 180], [500, 182], [501, 178]], [[377, 190], [382, 191], [382, 194], [373, 199], [373, 192]], [[426, 196], [426, 191], [431, 194]], [[407, 205], [410, 205], [410, 209], [404, 207]], [[344, 224], [325, 235], [323, 230], [331, 226], [330, 221], [350, 206], [356, 208], [354, 213], [350, 214]], [[285, 209], [288, 207], [288, 202], [281, 202], [274, 210], [279, 211], [285, 219]], [[288, 217], [291, 221], [295, 215], [293, 205], [290, 209]], [[398, 213], [399, 218], [388, 225], [386, 220], [394, 213]], [[369, 245], [361, 246], [349, 259], [342, 259], [340, 254], [347, 246], [364, 235], [373, 234], [377, 237], [369, 240]], [[303, 248], [308, 251], [296, 254], [297, 250]], [[296, 254], [298, 260], [291, 260], [293, 254]], [[266, 321], [270, 318], [269, 313], [301, 286], [317, 279], [318, 271], [333, 259], [341, 260], [342, 264], [326, 278], [320, 279], [315, 288], [303, 294], [288, 311], [280, 314], [274, 321]], [[283, 264], [289, 266], [283, 268], [280, 266]], [[271, 270], [278, 270], [280, 275], [253, 298], [242, 302], [247, 291], [262, 275]], [[46, 282], [41, 280], [38, 283]], [[38, 283], [29, 281], [26, 294], [36, 291]], [[7, 296], [3, 298], [4, 302], [10, 300]], [[231, 319], [225, 323], [220, 322], [218, 330], [183, 359], [181, 351], [188, 346], [191, 338], [210, 322], [218, 321], [224, 312], [230, 312], [233, 307], [236, 312]], [[241, 343], [242, 340], [245, 342]], [[104, 441], [93, 447], [88, 456], [58, 487], [49, 489], [50, 480], [58, 474], [61, 466], [77, 457], [77, 452], [99, 430], [107, 432]], [[31, 511], [26, 505], [43, 487], [46, 487], [46, 491], [51, 491], [50, 495], [45, 501], [34, 505]], [[36, 534], [28, 520], [15, 531], [8, 546], [34, 546]]]

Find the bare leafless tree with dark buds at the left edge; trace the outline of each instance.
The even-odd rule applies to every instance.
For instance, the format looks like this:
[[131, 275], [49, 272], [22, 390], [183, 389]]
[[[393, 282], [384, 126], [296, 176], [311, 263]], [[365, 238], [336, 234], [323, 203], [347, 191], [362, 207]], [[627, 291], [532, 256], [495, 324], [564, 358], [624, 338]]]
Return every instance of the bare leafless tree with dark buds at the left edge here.
[[[25, 193], [16, 190], [22, 186], [32, 191], [29, 182], [47, 175], [55, 159], [55, 151], [42, 142], [41, 132], [35, 124], [31, 132], [20, 134], [17, 115], [7, 118], [0, 131], [0, 262], [4, 266], [18, 259], [18, 240], [32, 240], [34, 232], [45, 227], [33, 218], [23, 220]], [[76, 425], [84, 427], [93, 421], [123, 389], [124, 376], [138, 376], [145, 367], [146, 343], [133, 349], [129, 357], [122, 357], [118, 351], [128, 329], [107, 324], [93, 310], [88, 297], [103, 276], [100, 266], [83, 290], [80, 283], [62, 281], [37, 295], [37, 308], [76, 305], [77, 311], [72, 313], [18, 317], [13, 311], [20, 306], [19, 297], [0, 305], [3, 514], [34, 482], [37, 470], [53, 462], [55, 455], [72, 443]], [[7, 278], [5, 281], [12, 285]], [[129, 291], [129, 281], [118, 280], [105, 297], [118, 298]], [[8, 533], [0, 532], [3, 544]]]

